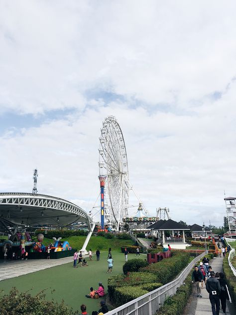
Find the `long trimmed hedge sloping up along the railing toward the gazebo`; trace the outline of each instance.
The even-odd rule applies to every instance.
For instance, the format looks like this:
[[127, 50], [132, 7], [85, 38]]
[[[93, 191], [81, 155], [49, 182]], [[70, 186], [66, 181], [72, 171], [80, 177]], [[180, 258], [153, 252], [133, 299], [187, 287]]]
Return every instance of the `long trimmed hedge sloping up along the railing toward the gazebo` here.
[[166, 284], [172, 281], [188, 265], [189, 258], [188, 253], [176, 253], [173, 257], [141, 268], [140, 271], [151, 273], [156, 276], [156, 282]]

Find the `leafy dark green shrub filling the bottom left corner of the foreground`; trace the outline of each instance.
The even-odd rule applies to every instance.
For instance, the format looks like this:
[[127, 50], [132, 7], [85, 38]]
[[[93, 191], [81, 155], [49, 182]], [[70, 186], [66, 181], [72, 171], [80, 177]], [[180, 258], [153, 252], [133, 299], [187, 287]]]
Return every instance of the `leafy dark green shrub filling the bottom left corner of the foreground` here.
[[19, 293], [16, 288], [11, 288], [9, 294], [0, 294], [1, 314], [37, 314], [37, 315], [76, 315], [71, 308], [57, 302], [46, 301], [42, 291], [36, 296], [31, 296], [29, 292]]

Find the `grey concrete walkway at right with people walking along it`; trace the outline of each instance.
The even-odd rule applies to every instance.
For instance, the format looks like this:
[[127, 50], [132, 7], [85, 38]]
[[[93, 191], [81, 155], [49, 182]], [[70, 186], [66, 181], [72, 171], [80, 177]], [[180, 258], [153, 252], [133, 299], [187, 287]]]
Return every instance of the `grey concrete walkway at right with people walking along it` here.
[[[212, 270], [215, 272], [223, 272], [223, 255], [222, 257], [218, 256], [213, 258], [210, 261], [210, 266], [212, 266]], [[206, 286], [204, 284], [204, 289], [202, 289], [202, 298], [197, 298], [197, 290], [194, 286], [192, 293], [192, 301], [189, 307], [187, 315], [212, 315], [212, 307], [209, 300], [209, 293], [206, 290]], [[230, 313], [228, 306], [226, 307], [227, 314], [235, 314]], [[220, 314], [223, 314], [220, 311]]]

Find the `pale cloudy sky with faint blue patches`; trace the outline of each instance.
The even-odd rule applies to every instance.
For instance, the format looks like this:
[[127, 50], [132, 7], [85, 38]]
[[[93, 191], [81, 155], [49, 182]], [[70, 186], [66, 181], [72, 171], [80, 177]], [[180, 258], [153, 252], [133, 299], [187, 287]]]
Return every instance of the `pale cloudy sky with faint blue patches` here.
[[0, 191], [32, 192], [36, 167], [38, 193], [90, 211], [113, 115], [149, 213], [223, 225], [224, 191], [236, 195], [235, 12], [233, 0], [0, 1]]

